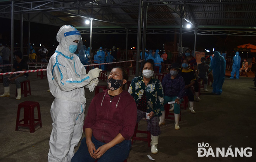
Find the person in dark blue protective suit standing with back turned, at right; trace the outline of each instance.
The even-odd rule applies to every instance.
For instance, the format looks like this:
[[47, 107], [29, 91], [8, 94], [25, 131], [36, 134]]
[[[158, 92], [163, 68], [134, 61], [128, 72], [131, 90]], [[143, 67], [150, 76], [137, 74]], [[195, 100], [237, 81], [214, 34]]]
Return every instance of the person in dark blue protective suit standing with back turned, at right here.
[[225, 80], [226, 60], [220, 56], [220, 52], [215, 51], [213, 60], [211, 61], [211, 69], [213, 70], [213, 94], [221, 95], [222, 85]]

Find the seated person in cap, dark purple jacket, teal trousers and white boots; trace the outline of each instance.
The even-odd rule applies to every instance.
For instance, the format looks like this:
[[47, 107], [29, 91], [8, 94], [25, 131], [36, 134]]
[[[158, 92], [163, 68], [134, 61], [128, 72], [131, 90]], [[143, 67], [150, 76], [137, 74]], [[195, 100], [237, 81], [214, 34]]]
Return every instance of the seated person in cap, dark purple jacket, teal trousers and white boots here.
[[182, 100], [183, 96], [185, 95], [185, 82], [182, 76], [178, 74], [180, 71], [180, 66], [178, 63], [173, 62], [168, 70], [170, 71], [170, 74], [165, 75], [162, 81], [162, 86], [164, 89], [164, 104], [161, 108], [162, 116], [160, 116], [159, 125], [165, 124], [164, 105], [168, 104], [170, 101], [175, 101], [171, 111], [174, 110], [175, 129], [179, 130], [180, 100]]

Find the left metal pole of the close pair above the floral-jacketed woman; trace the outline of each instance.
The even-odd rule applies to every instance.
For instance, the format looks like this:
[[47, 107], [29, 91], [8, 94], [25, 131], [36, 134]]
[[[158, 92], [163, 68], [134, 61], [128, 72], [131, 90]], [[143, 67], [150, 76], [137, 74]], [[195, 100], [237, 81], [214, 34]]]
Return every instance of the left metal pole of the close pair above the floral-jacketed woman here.
[[142, 21], [142, 0], [139, 0], [138, 34], [137, 34], [137, 61], [136, 61], [135, 76], [139, 75], [141, 21]]

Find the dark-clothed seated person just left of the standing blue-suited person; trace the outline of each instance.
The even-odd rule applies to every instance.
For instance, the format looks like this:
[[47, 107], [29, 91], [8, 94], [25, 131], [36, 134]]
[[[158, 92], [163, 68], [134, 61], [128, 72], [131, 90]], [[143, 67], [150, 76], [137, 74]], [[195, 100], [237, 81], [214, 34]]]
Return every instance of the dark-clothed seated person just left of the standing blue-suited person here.
[[205, 57], [201, 58], [201, 64], [198, 64], [197, 66], [197, 79], [202, 79], [204, 81], [204, 91], [208, 92], [207, 88], [207, 84], [208, 84], [208, 73], [209, 73], [209, 68], [210, 66], [208, 64], [206, 64], [206, 59]]

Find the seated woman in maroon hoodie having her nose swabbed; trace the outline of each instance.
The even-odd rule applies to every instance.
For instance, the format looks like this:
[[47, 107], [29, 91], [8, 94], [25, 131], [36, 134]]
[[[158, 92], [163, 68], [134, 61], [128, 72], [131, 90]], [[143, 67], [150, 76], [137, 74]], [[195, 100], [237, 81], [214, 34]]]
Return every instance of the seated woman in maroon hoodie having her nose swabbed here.
[[109, 74], [109, 89], [98, 93], [85, 118], [85, 138], [71, 162], [123, 162], [130, 152], [137, 119], [133, 97], [124, 91], [128, 80], [123, 67]]

